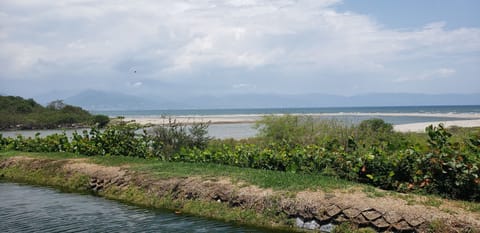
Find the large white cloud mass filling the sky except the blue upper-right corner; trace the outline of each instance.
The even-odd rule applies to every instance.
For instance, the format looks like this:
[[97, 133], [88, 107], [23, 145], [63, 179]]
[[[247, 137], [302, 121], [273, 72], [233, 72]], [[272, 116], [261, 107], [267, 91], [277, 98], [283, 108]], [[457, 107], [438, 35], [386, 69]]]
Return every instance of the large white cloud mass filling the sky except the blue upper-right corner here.
[[396, 30], [367, 15], [335, 11], [340, 2], [2, 0], [0, 79], [25, 73], [35, 79], [45, 61], [55, 64], [49, 74], [98, 69], [91, 73], [118, 76], [139, 67], [142, 78], [170, 81], [202, 80], [213, 71], [209, 77], [220, 82], [225, 74], [215, 71], [231, 69], [235, 80], [225, 85], [247, 82], [248, 73], [268, 79], [264, 89], [283, 90], [293, 88], [289, 78], [307, 91], [342, 76], [356, 90], [353, 82], [361, 78], [454, 77], [461, 66], [472, 66], [456, 59], [478, 60], [479, 28], [447, 30], [433, 22]]

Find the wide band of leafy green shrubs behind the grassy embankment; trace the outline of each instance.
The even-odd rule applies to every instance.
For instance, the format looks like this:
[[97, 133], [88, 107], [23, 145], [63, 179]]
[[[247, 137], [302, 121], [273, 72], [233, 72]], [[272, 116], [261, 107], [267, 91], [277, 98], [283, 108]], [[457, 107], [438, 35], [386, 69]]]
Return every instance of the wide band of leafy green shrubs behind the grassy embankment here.
[[[187, 127], [171, 121], [147, 133], [145, 129], [139, 130], [139, 125], [119, 123], [104, 131], [92, 128], [76, 133], [71, 139], [65, 134], [13, 139], [0, 136], [0, 150], [64, 151], [108, 159], [129, 156], [149, 158], [146, 163], [151, 159], [179, 162], [176, 167], [185, 162], [196, 163], [201, 164], [197, 165], [199, 169], [210, 166], [210, 171], [215, 170], [214, 164], [222, 164], [265, 173], [286, 172], [281, 173], [283, 177], [275, 177], [278, 180], [261, 181], [261, 175], [255, 172], [248, 177], [254, 170], [238, 170], [245, 173], [242, 179], [260, 179], [254, 181], [259, 184], [281, 185], [292, 174], [298, 175], [292, 182], [331, 176], [400, 192], [480, 200], [478, 128], [449, 132], [439, 125], [429, 126], [427, 134], [403, 134], [393, 132], [392, 126], [380, 119], [355, 126], [289, 115], [267, 116], [258, 126], [259, 137], [235, 141], [210, 140], [206, 124]], [[144, 165], [142, 169], [171, 171], [157, 163]], [[219, 168], [212, 176], [234, 171]], [[172, 173], [175, 172], [165, 174]]]

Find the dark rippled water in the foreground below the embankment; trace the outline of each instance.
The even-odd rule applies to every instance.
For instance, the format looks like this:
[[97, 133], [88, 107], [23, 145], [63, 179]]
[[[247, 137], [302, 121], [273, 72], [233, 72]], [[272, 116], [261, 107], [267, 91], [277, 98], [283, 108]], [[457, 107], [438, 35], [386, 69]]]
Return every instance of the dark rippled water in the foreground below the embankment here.
[[50, 188], [0, 182], [2, 232], [266, 232]]

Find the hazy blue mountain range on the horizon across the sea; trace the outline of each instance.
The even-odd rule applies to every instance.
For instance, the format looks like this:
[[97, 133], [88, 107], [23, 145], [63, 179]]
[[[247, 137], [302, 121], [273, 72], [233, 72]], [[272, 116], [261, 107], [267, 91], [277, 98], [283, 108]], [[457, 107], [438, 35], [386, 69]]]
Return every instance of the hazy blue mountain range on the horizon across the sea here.
[[177, 98], [140, 97], [122, 93], [88, 90], [64, 99], [65, 103], [88, 110], [154, 110], [215, 108], [291, 108], [291, 107], [360, 107], [480, 105], [477, 94], [392, 94], [375, 93], [355, 96], [326, 94], [238, 94]]

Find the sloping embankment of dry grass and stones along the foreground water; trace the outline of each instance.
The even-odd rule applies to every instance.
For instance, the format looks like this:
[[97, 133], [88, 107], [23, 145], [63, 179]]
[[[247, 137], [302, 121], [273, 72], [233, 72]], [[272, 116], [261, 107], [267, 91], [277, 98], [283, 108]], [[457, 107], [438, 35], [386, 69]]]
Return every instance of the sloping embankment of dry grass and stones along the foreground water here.
[[158, 178], [128, 166], [107, 167], [87, 159], [27, 156], [1, 159], [0, 176], [11, 181], [92, 192], [142, 206], [278, 229], [329, 230], [344, 222], [393, 232], [480, 229], [478, 212], [467, 211], [448, 201], [429, 206], [418, 204], [421, 202], [418, 200], [427, 197], [417, 197], [415, 202], [402, 198], [402, 194], [372, 196], [358, 188], [288, 192], [232, 182], [226, 177]]

